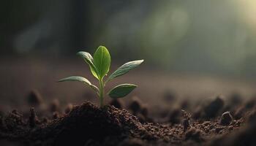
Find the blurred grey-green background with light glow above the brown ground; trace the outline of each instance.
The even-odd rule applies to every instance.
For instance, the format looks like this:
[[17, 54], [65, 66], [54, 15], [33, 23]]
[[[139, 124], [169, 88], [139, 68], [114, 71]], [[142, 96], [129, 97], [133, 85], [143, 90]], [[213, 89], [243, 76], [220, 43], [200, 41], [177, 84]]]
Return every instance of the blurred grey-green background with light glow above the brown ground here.
[[0, 11], [1, 58], [75, 57], [105, 45], [115, 61], [144, 58], [151, 69], [256, 73], [255, 0], [6, 0]]

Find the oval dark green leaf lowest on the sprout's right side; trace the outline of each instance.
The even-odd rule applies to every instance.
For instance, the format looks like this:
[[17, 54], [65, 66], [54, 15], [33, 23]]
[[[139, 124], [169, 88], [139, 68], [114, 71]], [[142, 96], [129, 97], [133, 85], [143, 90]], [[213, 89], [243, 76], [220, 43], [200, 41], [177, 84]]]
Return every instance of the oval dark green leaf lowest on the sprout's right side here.
[[111, 98], [115, 99], [115, 98], [121, 98], [124, 96], [127, 96], [129, 93], [131, 93], [133, 91], [133, 89], [135, 89], [137, 87], [137, 85], [133, 85], [133, 84], [121, 84], [121, 85], [117, 85], [116, 87], [114, 87], [113, 89], [111, 89], [108, 93], [108, 96], [110, 96]]

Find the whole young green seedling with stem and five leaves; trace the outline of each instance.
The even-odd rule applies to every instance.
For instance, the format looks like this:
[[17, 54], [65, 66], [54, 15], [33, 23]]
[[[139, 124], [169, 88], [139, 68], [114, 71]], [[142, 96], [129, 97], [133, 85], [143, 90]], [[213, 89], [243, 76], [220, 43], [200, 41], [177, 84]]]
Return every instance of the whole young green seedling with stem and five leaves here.
[[[97, 96], [99, 96], [100, 107], [103, 107], [104, 105], [103, 100], [105, 96], [105, 84], [116, 77], [126, 74], [127, 72], [129, 72], [129, 70], [134, 69], [135, 67], [143, 63], [143, 60], [127, 62], [126, 64], [123, 64], [118, 69], [116, 69], [115, 72], [110, 74], [107, 80], [103, 80], [104, 77], [108, 74], [111, 62], [110, 53], [108, 52], [108, 49], [106, 47], [99, 46], [94, 53], [94, 57], [92, 57], [90, 53], [86, 53], [83, 51], [78, 52], [77, 55], [80, 55], [80, 57], [82, 57], [83, 60], [86, 61], [86, 63], [89, 65], [91, 74], [93, 74], [94, 77], [96, 77], [97, 80], [99, 80], [99, 88], [96, 85], [91, 84], [91, 82], [87, 80], [85, 77], [79, 76], [66, 77], [64, 79], [59, 80], [59, 82], [80, 81], [88, 85], [92, 90], [94, 90], [97, 93]], [[108, 92], [108, 96], [110, 96], [113, 99], [121, 98], [127, 96], [136, 87], [137, 85], [127, 83], [117, 85]]]

